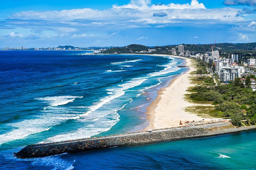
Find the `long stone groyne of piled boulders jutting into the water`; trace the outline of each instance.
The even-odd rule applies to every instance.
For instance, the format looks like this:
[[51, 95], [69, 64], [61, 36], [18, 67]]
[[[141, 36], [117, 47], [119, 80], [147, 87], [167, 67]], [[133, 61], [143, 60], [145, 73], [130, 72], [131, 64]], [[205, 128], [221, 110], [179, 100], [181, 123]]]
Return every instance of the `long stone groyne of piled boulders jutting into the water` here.
[[256, 126], [251, 128], [231, 128], [210, 130], [212, 128], [221, 128], [230, 126], [229, 123], [200, 125], [198, 127], [183, 127], [183, 128], [166, 128], [157, 129], [147, 132], [136, 132], [129, 134], [121, 134], [107, 137], [94, 137], [80, 140], [70, 140], [64, 142], [48, 143], [48, 144], [32, 144], [23, 148], [21, 151], [14, 153], [17, 158], [38, 158], [46, 157], [62, 153], [78, 153], [88, 152], [99, 149], [106, 149], [119, 146], [132, 146], [149, 144], [154, 142], [178, 140], [194, 137], [213, 136], [226, 133], [234, 133], [256, 129]]

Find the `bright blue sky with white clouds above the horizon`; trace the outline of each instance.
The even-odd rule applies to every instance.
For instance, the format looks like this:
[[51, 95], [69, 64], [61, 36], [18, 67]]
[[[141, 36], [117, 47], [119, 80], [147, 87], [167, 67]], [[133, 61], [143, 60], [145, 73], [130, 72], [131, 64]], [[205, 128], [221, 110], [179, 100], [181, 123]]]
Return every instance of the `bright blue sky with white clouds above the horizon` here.
[[0, 5], [0, 48], [256, 41], [256, 0], [44, 0]]

